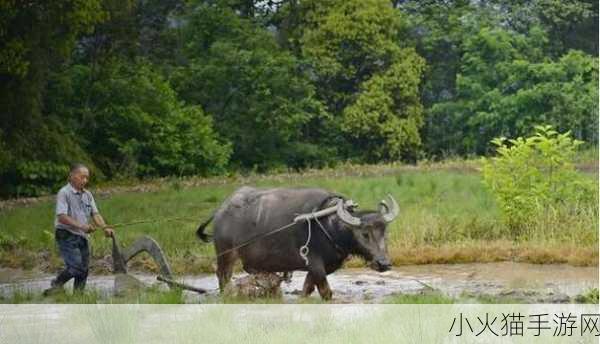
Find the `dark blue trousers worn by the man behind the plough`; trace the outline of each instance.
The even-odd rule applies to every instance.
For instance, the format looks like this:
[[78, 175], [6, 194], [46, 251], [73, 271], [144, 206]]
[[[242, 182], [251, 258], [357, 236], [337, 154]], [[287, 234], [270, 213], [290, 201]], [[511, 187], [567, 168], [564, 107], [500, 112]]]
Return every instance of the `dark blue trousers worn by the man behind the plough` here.
[[62, 287], [74, 278], [74, 290], [83, 290], [90, 263], [88, 240], [64, 229], [56, 229], [55, 238], [60, 255], [65, 262], [65, 269], [52, 280], [52, 287]]

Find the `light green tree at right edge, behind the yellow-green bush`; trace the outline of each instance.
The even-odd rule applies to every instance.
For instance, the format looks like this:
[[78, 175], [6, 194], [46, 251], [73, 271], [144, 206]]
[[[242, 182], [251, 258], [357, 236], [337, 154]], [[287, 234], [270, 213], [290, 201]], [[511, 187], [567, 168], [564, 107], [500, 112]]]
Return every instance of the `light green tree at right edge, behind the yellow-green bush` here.
[[456, 100], [430, 110], [437, 149], [483, 154], [493, 137], [522, 136], [540, 123], [597, 143], [597, 59], [571, 52], [553, 62], [546, 42], [535, 27], [527, 36], [483, 28], [467, 40]]

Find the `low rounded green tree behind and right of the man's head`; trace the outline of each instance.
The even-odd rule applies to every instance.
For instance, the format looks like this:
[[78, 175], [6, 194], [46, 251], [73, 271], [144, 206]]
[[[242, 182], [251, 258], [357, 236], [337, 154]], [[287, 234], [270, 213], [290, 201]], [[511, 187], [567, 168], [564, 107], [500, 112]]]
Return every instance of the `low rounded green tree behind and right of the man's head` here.
[[222, 172], [230, 148], [198, 106], [180, 102], [151, 64], [111, 60], [91, 85], [91, 68], [72, 66], [54, 81], [53, 111], [65, 114], [80, 143], [109, 176]]

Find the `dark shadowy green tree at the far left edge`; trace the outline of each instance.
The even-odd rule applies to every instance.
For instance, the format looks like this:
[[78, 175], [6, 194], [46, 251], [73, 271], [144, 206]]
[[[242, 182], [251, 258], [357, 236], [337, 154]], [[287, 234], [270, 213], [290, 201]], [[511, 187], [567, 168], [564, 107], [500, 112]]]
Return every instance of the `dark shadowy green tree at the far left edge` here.
[[[10, 147], [0, 194], [36, 194], [64, 180], [69, 160], [86, 160], [60, 119], [45, 113], [44, 92], [49, 71], [103, 19], [99, 0], [0, 2], [0, 146]], [[47, 175], [38, 178], [31, 166]]]

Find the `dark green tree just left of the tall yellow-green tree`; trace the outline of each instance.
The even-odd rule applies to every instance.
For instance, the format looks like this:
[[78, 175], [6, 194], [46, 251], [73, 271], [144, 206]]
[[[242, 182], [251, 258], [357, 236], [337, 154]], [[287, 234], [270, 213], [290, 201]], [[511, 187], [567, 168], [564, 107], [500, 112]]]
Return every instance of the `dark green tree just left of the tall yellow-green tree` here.
[[174, 83], [215, 119], [233, 146], [232, 160], [261, 170], [310, 160], [296, 154], [314, 152], [305, 149], [303, 128], [321, 105], [299, 61], [231, 8], [191, 4], [182, 20], [189, 44]]

